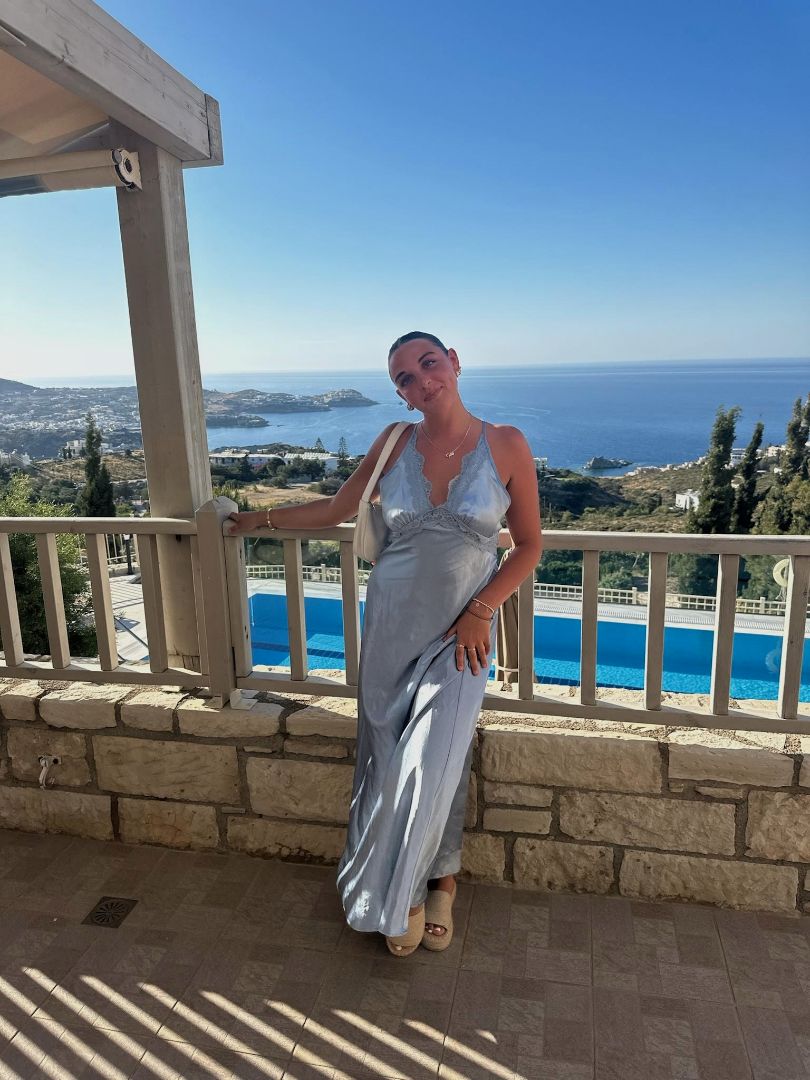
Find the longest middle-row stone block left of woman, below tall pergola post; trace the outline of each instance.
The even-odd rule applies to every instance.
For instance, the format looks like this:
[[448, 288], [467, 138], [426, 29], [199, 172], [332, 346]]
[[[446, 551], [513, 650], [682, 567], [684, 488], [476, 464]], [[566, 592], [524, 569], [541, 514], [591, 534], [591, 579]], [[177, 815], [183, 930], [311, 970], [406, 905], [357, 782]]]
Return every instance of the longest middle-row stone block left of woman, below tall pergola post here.
[[98, 786], [127, 795], [239, 804], [234, 746], [94, 735]]

